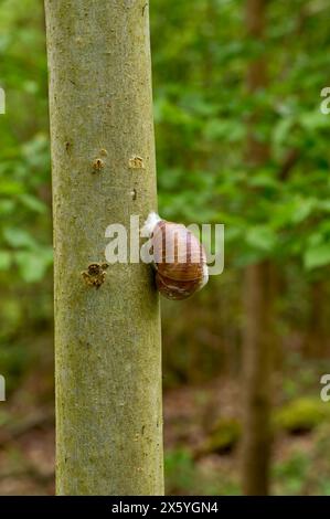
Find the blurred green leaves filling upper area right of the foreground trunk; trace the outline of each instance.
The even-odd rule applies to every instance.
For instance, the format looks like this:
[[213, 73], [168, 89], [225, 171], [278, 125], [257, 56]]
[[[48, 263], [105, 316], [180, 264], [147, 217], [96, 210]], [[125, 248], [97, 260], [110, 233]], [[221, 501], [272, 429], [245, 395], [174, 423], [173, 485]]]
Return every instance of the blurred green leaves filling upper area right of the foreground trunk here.
[[[273, 2], [265, 46], [246, 38], [233, 1], [158, 0], [151, 13], [161, 212], [225, 223], [226, 258], [237, 266], [265, 257], [307, 271], [328, 265], [323, 10]], [[268, 85], [249, 96], [244, 78], [258, 55], [269, 62]], [[259, 167], [246, 160], [254, 113], [255, 138], [269, 147]]]

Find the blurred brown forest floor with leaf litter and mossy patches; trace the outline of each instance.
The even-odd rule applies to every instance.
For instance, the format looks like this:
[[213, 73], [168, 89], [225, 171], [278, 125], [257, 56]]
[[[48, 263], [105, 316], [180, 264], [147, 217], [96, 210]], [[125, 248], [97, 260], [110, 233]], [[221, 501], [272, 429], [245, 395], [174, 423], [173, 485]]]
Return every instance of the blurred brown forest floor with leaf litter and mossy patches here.
[[[239, 413], [239, 388], [233, 380], [166, 392], [167, 494], [241, 494]], [[1, 411], [0, 425], [0, 495], [53, 495], [52, 407], [13, 404]], [[330, 495], [330, 421], [304, 434], [279, 432], [273, 447], [273, 494]]]

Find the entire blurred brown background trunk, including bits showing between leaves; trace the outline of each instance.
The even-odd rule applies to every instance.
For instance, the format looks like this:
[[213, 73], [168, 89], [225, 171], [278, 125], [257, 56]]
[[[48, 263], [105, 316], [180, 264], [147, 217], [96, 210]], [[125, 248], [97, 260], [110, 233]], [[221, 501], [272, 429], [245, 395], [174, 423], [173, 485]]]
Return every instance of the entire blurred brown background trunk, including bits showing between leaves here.
[[[248, 36], [262, 42], [266, 0], [248, 0], [246, 23]], [[254, 95], [267, 85], [266, 60], [254, 60], [247, 74], [247, 88]], [[269, 158], [268, 146], [254, 135], [262, 114], [255, 112], [248, 121], [247, 160], [257, 169]], [[260, 194], [262, 195], [262, 194]], [[245, 328], [243, 337], [244, 416], [242, 479], [246, 495], [267, 495], [270, 454], [270, 377], [273, 366], [273, 294], [274, 273], [268, 261], [246, 268], [244, 282]]]

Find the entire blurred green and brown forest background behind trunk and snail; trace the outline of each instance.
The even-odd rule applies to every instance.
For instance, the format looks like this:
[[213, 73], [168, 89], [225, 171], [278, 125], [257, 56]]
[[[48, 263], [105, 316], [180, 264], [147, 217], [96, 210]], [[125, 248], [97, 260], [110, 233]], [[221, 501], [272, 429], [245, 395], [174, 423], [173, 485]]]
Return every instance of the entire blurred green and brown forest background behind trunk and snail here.
[[[159, 205], [225, 224], [225, 269], [162, 301], [167, 494], [330, 495], [327, 0], [152, 0]], [[0, 1], [0, 494], [54, 492], [42, 0]]]

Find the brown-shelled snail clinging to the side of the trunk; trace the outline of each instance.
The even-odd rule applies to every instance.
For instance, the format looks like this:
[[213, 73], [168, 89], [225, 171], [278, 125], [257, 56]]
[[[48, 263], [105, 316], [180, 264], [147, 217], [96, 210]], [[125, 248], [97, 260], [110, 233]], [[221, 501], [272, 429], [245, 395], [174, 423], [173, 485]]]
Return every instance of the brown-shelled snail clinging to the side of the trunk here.
[[156, 285], [168, 299], [187, 299], [209, 280], [203, 245], [184, 225], [149, 214], [142, 234], [151, 239]]

